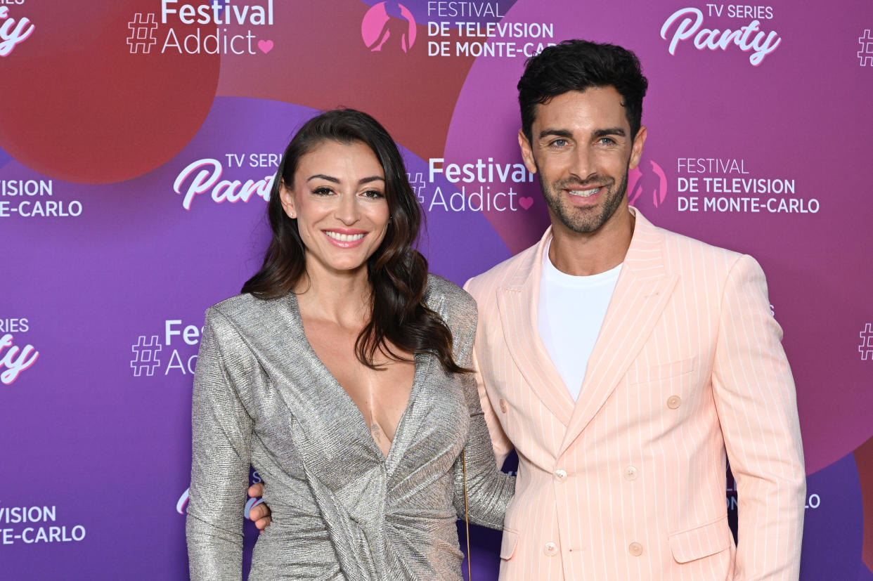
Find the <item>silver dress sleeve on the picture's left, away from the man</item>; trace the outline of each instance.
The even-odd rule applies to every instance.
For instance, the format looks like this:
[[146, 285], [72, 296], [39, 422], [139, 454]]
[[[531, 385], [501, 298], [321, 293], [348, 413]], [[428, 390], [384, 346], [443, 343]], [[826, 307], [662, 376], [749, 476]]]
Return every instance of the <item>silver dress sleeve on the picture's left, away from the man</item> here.
[[[218, 331], [223, 328], [227, 331]], [[252, 420], [229, 371], [227, 358], [233, 359], [237, 345], [222, 345], [225, 336], [234, 337], [235, 332], [221, 314], [210, 309], [191, 406], [191, 487], [185, 530], [192, 581], [238, 581], [243, 575], [243, 510]]]

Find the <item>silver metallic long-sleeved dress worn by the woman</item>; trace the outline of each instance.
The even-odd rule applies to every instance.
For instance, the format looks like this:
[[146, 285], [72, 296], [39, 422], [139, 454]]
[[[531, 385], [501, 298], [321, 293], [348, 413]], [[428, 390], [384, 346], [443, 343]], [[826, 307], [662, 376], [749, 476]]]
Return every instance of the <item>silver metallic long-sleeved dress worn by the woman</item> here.
[[[429, 277], [425, 300], [470, 366], [476, 304]], [[498, 471], [471, 374], [416, 355], [409, 404], [388, 457], [316, 357], [294, 294], [239, 295], [206, 311], [194, 380], [188, 504], [191, 579], [240, 579], [251, 463], [272, 525], [250, 579], [461, 579], [465, 445], [472, 523], [502, 529], [514, 480]]]

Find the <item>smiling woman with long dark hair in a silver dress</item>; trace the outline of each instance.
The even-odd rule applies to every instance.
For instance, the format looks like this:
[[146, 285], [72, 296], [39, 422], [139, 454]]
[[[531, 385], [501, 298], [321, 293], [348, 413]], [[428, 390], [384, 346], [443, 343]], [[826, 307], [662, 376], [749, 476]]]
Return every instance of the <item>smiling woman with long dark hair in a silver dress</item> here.
[[462, 448], [472, 522], [501, 529], [514, 481], [464, 373], [476, 305], [412, 248], [421, 215], [394, 141], [366, 113], [309, 120], [267, 211], [263, 267], [206, 312], [191, 578], [240, 578], [251, 462], [272, 525], [250, 579], [460, 579]]

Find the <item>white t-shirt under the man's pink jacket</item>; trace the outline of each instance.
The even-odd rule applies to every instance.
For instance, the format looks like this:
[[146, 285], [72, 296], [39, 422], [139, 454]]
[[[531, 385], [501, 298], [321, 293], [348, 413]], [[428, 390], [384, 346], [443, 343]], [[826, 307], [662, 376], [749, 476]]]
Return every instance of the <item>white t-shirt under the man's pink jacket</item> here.
[[574, 277], [554, 267], [548, 257], [550, 245], [551, 241], [543, 252], [537, 326], [552, 363], [578, 400], [622, 265], [590, 277]]

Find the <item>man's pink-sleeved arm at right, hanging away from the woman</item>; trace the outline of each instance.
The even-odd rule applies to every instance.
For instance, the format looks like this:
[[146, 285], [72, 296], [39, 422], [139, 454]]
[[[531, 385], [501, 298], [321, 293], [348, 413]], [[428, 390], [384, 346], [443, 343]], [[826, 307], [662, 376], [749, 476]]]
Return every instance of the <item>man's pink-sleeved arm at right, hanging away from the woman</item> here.
[[764, 272], [740, 256], [728, 274], [712, 367], [718, 419], [737, 482], [734, 581], [800, 576], [806, 473], [794, 379]]

